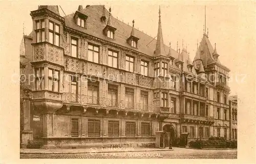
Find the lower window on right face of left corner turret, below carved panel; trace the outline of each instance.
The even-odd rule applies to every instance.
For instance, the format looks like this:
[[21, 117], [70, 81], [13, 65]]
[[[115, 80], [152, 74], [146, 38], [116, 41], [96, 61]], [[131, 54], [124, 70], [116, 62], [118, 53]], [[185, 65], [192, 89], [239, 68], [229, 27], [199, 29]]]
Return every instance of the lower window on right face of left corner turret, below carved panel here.
[[48, 69], [48, 89], [50, 91], [59, 92], [59, 71]]

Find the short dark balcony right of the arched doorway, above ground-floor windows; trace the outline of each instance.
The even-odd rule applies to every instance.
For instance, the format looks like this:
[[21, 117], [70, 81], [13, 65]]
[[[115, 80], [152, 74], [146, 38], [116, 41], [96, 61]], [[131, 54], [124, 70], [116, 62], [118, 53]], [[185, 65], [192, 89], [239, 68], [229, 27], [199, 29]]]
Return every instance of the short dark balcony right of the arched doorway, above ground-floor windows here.
[[197, 116], [181, 114], [182, 122], [186, 123], [198, 123], [198, 124], [213, 124], [215, 122], [214, 117], [211, 116]]

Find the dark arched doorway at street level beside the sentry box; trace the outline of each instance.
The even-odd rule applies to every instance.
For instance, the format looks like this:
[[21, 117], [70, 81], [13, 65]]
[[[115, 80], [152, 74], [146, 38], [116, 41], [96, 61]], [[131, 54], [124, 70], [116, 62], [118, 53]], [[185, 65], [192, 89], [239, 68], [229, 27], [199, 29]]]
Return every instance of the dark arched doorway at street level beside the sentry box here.
[[175, 142], [175, 128], [173, 124], [166, 124], [163, 126], [163, 131], [166, 132], [165, 136], [165, 147], [169, 147], [170, 143], [174, 145]]

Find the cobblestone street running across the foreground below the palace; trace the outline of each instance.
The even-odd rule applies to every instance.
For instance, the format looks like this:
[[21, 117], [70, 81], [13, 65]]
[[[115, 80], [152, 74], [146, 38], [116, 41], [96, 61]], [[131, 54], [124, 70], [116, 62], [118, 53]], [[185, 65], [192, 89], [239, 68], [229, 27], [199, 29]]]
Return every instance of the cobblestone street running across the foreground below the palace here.
[[236, 159], [237, 149], [229, 150], [198, 150], [174, 148], [174, 151], [151, 151], [151, 152], [120, 152], [120, 153], [72, 153], [72, 154], [20, 154], [20, 158], [173, 158], [173, 159]]

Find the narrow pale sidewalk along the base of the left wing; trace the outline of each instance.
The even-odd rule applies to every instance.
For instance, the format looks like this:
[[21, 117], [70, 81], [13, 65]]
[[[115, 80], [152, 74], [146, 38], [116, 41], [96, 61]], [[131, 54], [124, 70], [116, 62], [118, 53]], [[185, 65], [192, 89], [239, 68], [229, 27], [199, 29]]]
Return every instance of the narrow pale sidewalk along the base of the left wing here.
[[74, 154], [74, 153], [120, 153], [120, 152], [147, 152], [173, 151], [168, 148], [88, 148], [88, 149], [20, 149], [21, 154]]

